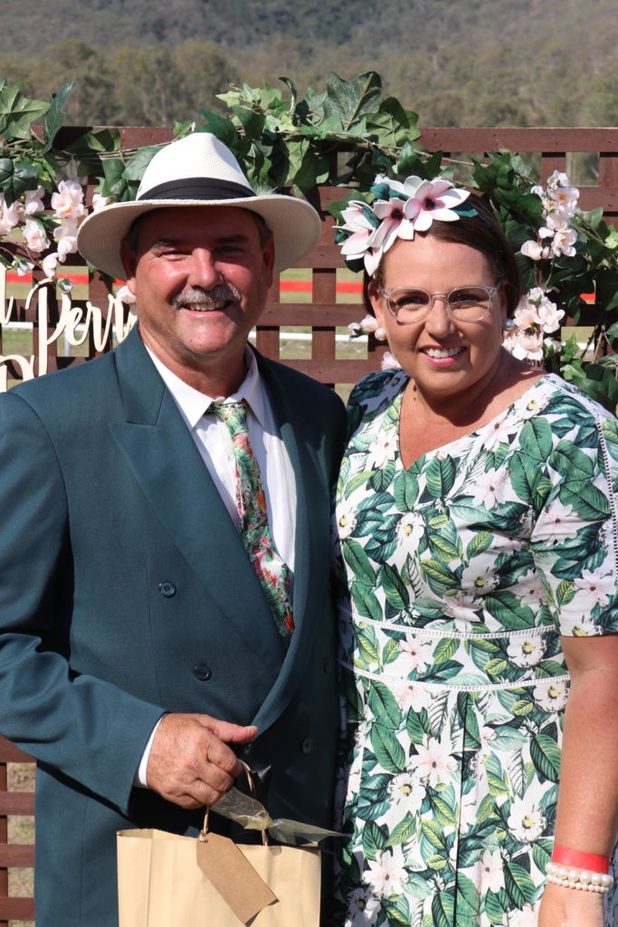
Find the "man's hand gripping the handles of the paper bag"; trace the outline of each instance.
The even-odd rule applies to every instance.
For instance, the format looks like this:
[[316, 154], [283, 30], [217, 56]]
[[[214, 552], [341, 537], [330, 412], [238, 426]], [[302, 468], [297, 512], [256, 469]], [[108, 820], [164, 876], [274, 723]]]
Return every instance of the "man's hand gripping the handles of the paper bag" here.
[[166, 715], [148, 757], [148, 788], [183, 808], [214, 805], [243, 769], [227, 743], [247, 743], [257, 735], [255, 726], [209, 715]]

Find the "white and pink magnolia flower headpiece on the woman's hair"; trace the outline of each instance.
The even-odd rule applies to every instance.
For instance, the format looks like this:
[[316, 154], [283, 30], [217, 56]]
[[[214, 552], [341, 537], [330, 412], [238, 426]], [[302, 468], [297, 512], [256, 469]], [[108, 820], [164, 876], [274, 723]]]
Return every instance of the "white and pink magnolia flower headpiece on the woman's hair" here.
[[408, 177], [402, 184], [378, 175], [370, 194], [372, 202], [354, 199], [347, 203], [341, 213], [344, 222], [336, 226], [335, 236], [350, 270], [364, 266], [370, 276], [397, 238], [411, 239], [415, 232], [426, 232], [435, 219], [454, 222], [462, 215], [477, 214], [473, 208], [461, 208], [470, 191], [457, 189], [442, 177]]

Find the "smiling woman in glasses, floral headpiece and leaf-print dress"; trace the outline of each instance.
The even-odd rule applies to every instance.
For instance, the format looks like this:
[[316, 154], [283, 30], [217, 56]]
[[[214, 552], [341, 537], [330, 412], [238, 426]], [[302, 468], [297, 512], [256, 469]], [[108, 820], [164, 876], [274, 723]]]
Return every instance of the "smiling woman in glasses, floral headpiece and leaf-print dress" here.
[[337, 923], [618, 924], [616, 422], [502, 348], [520, 281], [481, 197], [378, 183], [344, 252], [401, 370], [354, 389], [337, 492]]

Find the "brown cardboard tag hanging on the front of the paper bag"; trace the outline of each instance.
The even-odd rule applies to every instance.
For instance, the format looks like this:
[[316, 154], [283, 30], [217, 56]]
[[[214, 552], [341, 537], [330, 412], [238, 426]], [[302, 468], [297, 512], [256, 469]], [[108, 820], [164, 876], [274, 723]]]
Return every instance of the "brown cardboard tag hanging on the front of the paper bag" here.
[[243, 924], [277, 900], [229, 837], [207, 833], [198, 840], [197, 865]]

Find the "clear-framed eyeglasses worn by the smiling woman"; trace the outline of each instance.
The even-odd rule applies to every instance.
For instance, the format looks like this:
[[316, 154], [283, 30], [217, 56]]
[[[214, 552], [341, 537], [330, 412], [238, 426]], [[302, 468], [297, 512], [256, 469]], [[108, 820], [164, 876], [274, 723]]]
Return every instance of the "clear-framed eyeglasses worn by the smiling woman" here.
[[428, 293], [419, 286], [380, 287], [380, 296], [385, 298], [388, 311], [397, 322], [409, 324], [423, 322], [434, 308], [437, 298], [443, 299], [448, 314], [459, 322], [480, 322], [491, 309], [492, 299], [498, 293], [498, 286], [454, 286], [446, 293]]

